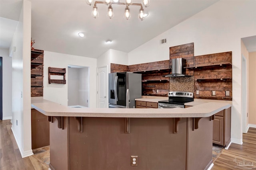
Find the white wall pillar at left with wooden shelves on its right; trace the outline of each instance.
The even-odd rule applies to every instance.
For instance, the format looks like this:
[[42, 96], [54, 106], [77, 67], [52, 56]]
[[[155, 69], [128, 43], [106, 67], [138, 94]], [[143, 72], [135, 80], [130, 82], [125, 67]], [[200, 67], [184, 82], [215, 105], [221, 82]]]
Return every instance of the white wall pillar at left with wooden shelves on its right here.
[[12, 132], [22, 158], [33, 154], [31, 149], [30, 38], [31, 2], [24, 0], [10, 46], [10, 49], [16, 47], [16, 52], [12, 54]]

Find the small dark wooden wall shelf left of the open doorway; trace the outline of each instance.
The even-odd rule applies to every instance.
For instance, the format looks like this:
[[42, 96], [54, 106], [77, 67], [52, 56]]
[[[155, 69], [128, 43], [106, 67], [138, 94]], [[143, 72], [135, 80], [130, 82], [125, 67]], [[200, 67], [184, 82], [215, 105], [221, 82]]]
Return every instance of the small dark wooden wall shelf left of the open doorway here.
[[[49, 67], [48, 68], [49, 84], [51, 84], [51, 83], [66, 84], [66, 76], [65, 76], [65, 74], [66, 74], [66, 68]], [[63, 76], [63, 80], [51, 79], [51, 75]]]

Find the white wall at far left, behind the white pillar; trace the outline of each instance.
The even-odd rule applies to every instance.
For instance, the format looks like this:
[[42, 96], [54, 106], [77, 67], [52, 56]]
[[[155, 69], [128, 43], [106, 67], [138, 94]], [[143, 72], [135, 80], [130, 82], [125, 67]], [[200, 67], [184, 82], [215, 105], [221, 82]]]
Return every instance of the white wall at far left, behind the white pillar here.
[[3, 120], [12, 119], [12, 57], [9, 50], [0, 48], [3, 57]]

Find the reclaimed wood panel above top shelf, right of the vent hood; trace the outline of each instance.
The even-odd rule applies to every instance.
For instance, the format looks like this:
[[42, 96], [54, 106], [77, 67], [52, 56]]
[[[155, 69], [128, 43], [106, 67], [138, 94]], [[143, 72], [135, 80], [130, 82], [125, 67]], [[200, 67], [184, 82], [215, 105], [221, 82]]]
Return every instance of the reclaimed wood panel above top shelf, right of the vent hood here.
[[232, 63], [232, 51], [195, 56], [194, 60], [195, 66], [197, 67], [214, 65], [218, 63]]

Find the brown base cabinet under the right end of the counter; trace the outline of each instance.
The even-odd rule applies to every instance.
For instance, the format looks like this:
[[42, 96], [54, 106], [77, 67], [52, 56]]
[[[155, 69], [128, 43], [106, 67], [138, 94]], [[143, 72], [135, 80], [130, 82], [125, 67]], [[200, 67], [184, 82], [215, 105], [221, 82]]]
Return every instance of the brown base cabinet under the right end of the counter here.
[[231, 107], [215, 114], [213, 120], [212, 141], [214, 144], [226, 147], [230, 143]]

